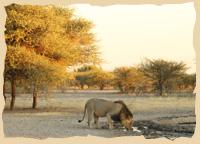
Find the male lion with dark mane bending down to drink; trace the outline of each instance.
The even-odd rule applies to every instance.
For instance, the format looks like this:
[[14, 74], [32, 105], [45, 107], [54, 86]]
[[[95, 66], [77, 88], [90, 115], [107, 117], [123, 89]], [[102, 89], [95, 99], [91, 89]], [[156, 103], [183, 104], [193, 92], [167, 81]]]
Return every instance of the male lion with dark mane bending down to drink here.
[[113, 120], [121, 122], [126, 129], [132, 130], [133, 115], [123, 101], [112, 102], [104, 99], [89, 99], [85, 104], [84, 115], [82, 120], [78, 121], [79, 123], [84, 120], [86, 111], [89, 128], [91, 128], [92, 118], [94, 118], [95, 127], [98, 128], [99, 117], [107, 117], [109, 129], [113, 128], [113, 118]]

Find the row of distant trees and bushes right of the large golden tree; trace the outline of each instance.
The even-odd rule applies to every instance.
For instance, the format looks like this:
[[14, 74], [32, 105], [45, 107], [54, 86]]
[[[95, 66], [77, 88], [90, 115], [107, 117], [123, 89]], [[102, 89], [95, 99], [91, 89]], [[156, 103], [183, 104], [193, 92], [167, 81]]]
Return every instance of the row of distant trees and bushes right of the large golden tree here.
[[[183, 62], [150, 60], [136, 67], [119, 67], [104, 71], [98, 66], [86, 65], [71, 74], [73, 78], [66, 87], [119, 89], [122, 93], [164, 93], [192, 92], [196, 85], [196, 74], [187, 74]], [[63, 86], [63, 85], [62, 85]]]

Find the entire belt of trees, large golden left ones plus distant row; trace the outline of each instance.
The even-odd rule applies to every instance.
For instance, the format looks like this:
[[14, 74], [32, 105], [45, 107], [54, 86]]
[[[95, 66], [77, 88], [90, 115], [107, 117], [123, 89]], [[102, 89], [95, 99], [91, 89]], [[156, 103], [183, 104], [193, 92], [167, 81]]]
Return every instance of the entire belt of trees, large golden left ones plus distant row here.
[[196, 74], [187, 74], [183, 62], [146, 59], [137, 66], [101, 68], [93, 24], [76, 17], [74, 10], [55, 6], [12, 4], [7, 13], [5, 93], [32, 93], [37, 107], [40, 91], [59, 89], [117, 89], [122, 93], [192, 92]]

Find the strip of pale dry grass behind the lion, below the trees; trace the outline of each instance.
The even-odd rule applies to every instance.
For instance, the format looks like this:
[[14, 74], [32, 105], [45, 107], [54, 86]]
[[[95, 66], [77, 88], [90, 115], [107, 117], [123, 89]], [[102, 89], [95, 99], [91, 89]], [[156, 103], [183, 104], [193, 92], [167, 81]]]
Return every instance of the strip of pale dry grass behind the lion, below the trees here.
[[[20, 94], [16, 98], [15, 111], [24, 113], [37, 112], [67, 112], [81, 113], [85, 102], [90, 98], [102, 98], [111, 101], [123, 100], [133, 113], [162, 112], [170, 113], [177, 111], [194, 111], [194, 96], [131, 96], [112, 92], [68, 92], [51, 93], [40, 95], [37, 110], [32, 110], [31, 94]], [[10, 99], [7, 99], [5, 110], [9, 110]]]

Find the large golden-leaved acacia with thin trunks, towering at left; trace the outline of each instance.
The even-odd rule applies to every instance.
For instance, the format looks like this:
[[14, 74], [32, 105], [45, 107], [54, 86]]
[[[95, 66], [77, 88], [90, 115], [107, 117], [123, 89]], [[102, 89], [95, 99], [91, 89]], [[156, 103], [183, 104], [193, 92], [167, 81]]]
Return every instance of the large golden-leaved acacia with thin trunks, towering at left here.
[[17, 4], [5, 9], [5, 75], [12, 85], [11, 109], [16, 79], [24, 78], [33, 83], [35, 103], [38, 84], [62, 80], [60, 73], [66, 72], [68, 66], [99, 62], [94, 35], [90, 32], [93, 25], [76, 18], [73, 10]]

